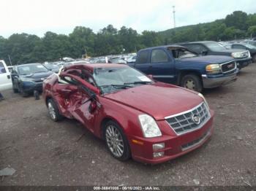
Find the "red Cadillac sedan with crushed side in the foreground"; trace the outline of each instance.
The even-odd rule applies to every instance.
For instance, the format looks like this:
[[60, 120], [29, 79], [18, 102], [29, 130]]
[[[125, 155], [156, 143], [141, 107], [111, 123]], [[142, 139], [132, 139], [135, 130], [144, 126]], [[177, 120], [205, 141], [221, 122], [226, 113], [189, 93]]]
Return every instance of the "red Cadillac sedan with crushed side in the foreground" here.
[[155, 82], [121, 64], [67, 66], [45, 79], [50, 118], [75, 118], [118, 160], [162, 163], [200, 147], [214, 111], [202, 94]]

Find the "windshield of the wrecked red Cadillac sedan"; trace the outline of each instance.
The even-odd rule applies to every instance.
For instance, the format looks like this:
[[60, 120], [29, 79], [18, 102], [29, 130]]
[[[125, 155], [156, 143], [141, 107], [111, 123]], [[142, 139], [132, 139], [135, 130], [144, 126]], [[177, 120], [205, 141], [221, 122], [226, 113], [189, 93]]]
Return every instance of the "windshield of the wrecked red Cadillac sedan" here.
[[130, 67], [94, 69], [94, 80], [102, 93], [112, 93], [137, 85], [151, 84], [153, 81]]

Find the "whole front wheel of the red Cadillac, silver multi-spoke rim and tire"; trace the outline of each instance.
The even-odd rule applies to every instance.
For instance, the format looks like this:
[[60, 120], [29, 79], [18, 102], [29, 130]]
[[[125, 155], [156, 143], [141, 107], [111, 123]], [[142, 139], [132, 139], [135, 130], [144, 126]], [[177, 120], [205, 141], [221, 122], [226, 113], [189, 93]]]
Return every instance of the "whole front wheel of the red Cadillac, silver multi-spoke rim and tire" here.
[[113, 157], [121, 161], [131, 157], [127, 138], [116, 122], [109, 121], [106, 123], [104, 136], [108, 150]]

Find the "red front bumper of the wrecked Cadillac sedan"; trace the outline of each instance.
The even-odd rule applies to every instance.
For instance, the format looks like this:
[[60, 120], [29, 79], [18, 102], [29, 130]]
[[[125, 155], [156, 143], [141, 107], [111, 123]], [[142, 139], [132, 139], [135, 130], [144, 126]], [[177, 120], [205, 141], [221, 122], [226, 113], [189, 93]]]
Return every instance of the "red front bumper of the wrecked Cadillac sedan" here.
[[[197, 149], [210, 139], [214, 131], [214, 127], [212, 126], [214, 111], [210, 110], [210, 113], [211, 118], [202, 128], [180, 136], [173, 134], [173, 136], [159, 136], [150, 139], [129, 136], [132, 158], [142, 163], [157, 164], [172, 160]], [[167, 122], [163, 120], [160, 122], [160, 125], [167, 125]], [[167, 125], [167, 128], [170, 127]], [[136, 143], [134, 140], [136, 140]], [[165, 143], [165, 148], [154, 151], [153, 144], [159, 143]], [[154, 152], [164, 152], [164, 155], [162, 157], [153, 157]]]

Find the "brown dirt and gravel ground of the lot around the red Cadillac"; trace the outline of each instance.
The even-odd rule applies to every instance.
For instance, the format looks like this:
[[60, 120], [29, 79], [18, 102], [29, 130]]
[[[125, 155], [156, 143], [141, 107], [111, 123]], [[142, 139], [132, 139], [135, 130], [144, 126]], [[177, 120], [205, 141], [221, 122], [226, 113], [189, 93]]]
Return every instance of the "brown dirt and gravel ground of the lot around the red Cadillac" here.
[[[53, 122], [43, 100], [4, 92], [0, 102], [1, 185], [256, 185], [256, 64], [238, 81], [206, 90], [215, 132], [194, 152], [160, 165], [121, 163], [75, 120]], [[84, 136], [80, 139], [80, 136]]]

